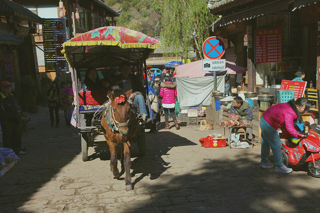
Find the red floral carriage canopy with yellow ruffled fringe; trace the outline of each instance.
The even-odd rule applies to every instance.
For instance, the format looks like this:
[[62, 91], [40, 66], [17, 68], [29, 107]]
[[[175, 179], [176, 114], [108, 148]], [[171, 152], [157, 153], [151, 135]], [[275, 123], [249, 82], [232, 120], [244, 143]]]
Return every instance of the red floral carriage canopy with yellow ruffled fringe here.
[[140, 65], [161, 43], [124, 27], [100, 27], [62, 44], [71, 67], [112, 67], [121, 62]]

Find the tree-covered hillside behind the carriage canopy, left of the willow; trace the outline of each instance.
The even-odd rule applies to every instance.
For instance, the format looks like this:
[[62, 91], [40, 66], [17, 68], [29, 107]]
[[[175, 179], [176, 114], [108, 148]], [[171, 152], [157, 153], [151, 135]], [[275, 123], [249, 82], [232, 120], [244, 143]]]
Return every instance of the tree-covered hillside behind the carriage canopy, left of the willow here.
[[151, 37], [159, 36], [161, 31], [162, 6], [158, 0], [105, 0], [114, 10], [120, 10], [116, 25], [137, 30]]

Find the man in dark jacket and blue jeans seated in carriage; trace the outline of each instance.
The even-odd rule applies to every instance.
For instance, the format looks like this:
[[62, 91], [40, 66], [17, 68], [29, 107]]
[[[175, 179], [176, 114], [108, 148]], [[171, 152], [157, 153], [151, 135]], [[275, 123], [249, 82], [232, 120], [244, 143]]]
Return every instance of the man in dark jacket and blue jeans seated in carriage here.
[[[145, 100], [142, 95], [144, 88], [142, 87], [139, 77], [131, 73], [130, 64], [127, 62], [123, 62], [120, 65], [120, 72], [121, 75], [116, 76], [112, 80], [112, 86], [119, 86], [126, 92], [132, 89], [130, 98], [133, 100], [133, 106], [139, 108], [140, 115], [146, 114], [148, 116]], [[146, 123], [151, 120], [152, 118], [148, 118]]]

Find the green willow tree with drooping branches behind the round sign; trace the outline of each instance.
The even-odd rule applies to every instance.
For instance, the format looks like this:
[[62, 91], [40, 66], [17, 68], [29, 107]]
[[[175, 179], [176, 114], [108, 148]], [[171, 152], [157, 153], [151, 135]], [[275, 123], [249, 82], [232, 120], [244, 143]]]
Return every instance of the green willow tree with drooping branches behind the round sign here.
[[205, 0], [162, 0], [164, 7], [161, 37], [164, 47], [174, 52], [167, 56], [188, 57], [190, 50], [204, 59], [202, 44], [209, 37], [209, 27], [216, 19]]

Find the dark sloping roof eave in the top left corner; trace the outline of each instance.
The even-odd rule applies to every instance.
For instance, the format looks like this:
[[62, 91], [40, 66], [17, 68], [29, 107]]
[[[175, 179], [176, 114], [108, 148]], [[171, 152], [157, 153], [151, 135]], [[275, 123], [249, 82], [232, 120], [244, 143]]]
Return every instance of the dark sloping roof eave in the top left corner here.
[[16, 16], [21, 19], [42, 24], [43, 19], [31, 12], [23, 5], [9, 0], [0, 0], [0, 14], [2, 16]]

